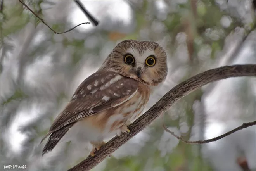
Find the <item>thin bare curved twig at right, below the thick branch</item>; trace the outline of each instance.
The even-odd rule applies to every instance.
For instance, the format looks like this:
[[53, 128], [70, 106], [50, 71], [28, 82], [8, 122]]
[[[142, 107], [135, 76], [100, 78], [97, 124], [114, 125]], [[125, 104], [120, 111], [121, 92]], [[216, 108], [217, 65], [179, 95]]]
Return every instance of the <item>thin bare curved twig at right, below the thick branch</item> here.
[[244, 128], [247, 128], [249, 126], [253, 126], [256, 124], [256, 121], [253, 121], [253, 122], [248, 122], [248, 123], [243, 123], [241, 126], [231, 130], [231, 131], [228, 131], [227, 133], [225, 134], [222, 134], [220, 136], [217, 136], [217, 137], [214, 137], [214, 138], [211, 138], [211, 139], [207, 139], [207, 140], [199, 140], [199, 141], [188, 141], [188, 140], [184, 140], [182, 137], [180, 136], [177, 136], [175, 135], [174, 132], [168, 130], [168, 128], [166, 128], [166, 126], [163, 124], [163, 128], [166, 132], [170, 133], [171, 135], [175, 136], [178, 140], [181, 140], [182, 142], [185, 142], [185, 143], [189, 143], [189, 144], [204, 144], [204, 143], [209, 143], [209, 142], [214, 142], [214, 141], [217, 141], [217, 140], [220, 140], [232, 133], [235, 133], [236, 131], [239, 131], [239, 130], [242, 130]]

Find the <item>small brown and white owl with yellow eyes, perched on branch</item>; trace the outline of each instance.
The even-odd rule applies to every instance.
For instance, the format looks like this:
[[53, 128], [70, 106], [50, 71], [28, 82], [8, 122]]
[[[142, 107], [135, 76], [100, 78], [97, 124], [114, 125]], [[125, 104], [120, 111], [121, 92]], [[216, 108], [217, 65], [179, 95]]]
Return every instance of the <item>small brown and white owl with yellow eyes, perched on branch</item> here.
[[104, 139], [129, 133], [127, 126], [142, 114], [167, 70], [166, 52], [158, 43], [124, 40], [116, 45], [54, 120], [42, 139], [50, 135], [42, 155], [76, 138], [92, 144], [93, 157]]

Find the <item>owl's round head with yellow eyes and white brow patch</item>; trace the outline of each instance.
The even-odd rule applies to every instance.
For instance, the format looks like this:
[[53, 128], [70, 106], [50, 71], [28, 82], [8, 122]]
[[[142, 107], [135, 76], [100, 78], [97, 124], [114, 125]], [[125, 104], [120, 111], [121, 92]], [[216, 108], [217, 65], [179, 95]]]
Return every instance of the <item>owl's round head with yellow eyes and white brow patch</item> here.
[[124, 40], [116, 45], [100, 69], [157, 86], [167, 76], [166, 52], [154, 41]]

